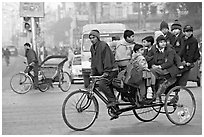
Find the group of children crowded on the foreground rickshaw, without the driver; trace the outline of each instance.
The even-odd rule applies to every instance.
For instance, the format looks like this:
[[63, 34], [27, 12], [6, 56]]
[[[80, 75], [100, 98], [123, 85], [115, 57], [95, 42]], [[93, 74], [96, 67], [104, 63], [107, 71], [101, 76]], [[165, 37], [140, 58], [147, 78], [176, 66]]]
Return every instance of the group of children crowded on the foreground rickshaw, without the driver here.
[[[142, 39], [142, 44], [134, 43], [134, 32], [126, 30], [124, 39], [115, 47], [115, 59], [121, 70], [128, 70], [128, 65], [137, 68], [145, 79], [145, 87], [140, 83], [140, 94], [143, 100], [152, 99], [165, 92], [166, 87], [174, 84], [186, 86], [190, 69], [200, 57], [198, 42], [193, 36], [193, 27], [186, 25], [183, 29], [176, 20], [171, 25], [162, 21], [160, 31], [155, 32], [155, 37], [147, 36]], [[178, 74], [181, 76], [176, 78]], [[131, 74], [134, 75], [134, 74]], [[166, 81], [155, 87], [157, 79], [165, 77]], [[134, 77], [133, 80], [141, 77]], [[123, 100], [125, 96], [121, 97]]]

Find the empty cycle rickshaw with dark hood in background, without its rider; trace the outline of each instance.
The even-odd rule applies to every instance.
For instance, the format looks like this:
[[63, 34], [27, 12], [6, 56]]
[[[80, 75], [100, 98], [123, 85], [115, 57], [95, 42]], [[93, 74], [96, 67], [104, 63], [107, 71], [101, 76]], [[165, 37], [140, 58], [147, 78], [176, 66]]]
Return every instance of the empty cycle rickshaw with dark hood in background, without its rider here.
[[[53, 66], [48, 64], [51, 59], [61, 59], [62, 61]], [[52, 83], [58, 82], [59, 88], [63, 92], [67, 92], [71, 86], [71, 78], [67, 72], [63, 71], [64, 63], [68, 60], [67, 56], [52, 55], [48, 56], [38, 66], [38, 89], [45, 92], [49, 89]], [[19, 72], [12, 76], [10, 86], [12, 90], [18, 94], [27, 93], [33, 86], [34, 72], [28, 72], [29, 65], [23, 72]]]

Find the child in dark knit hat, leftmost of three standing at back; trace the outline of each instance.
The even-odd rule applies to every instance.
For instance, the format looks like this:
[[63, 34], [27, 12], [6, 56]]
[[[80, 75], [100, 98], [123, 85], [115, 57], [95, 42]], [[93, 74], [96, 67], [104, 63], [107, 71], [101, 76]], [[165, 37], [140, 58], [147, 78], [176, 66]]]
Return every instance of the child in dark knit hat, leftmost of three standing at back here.
[[165, 21], [161, 22], [160, 31], [163, 33], [167, 44], [173, 45], [173, 43], [175, 41], [174, 36], [173, 36], [173, 34], [171, 32], [169, 32], [169, 25]]

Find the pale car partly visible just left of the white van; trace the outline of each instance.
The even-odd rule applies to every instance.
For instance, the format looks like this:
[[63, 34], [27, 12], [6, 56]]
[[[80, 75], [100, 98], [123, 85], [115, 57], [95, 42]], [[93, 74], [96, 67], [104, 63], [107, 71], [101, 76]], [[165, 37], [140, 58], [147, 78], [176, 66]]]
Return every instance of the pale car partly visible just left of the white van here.
[[74, 55], [74, 60], [72, 62], [71, 68], [72, 83], [74, 83], [75, 80], [83, 80], [81, 54]]

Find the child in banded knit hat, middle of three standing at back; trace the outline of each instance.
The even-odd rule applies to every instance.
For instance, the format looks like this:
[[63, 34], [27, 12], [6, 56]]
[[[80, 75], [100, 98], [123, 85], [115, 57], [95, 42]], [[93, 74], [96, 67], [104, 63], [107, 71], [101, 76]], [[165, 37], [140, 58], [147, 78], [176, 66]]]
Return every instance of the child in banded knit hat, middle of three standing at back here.
[[182, 32], [182, 26], [178, 20], [171, 25], [171, 32], [174, 35], [174, 42], [172, 43], [173, 49], [181, 56], [184, 49], [184, 34]]

